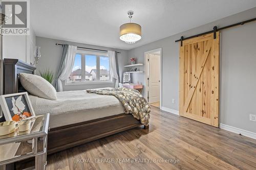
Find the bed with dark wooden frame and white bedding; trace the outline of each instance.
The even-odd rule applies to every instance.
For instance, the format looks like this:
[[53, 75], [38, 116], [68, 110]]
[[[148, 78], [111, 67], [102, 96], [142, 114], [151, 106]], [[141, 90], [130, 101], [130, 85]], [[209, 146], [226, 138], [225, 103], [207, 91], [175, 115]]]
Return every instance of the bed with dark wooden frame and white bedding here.
[[[25, 91], [18, 73], [34, 74], [35, 69], [17, 59], [4, 59], [3, 93]], [[57, 95], [58, 100], [54, 102], [30, 95], [36, 114], [50, 113], [48, 154], [142, 126], [132, 114], [123, 113], [121, 103], [114, 96], [100, 96], [86, 91], [58, 92]], [[47, 111], [44, 105], [48, 106]], [[71, 107], [70, 110], [67, 110], [68, 107]]]

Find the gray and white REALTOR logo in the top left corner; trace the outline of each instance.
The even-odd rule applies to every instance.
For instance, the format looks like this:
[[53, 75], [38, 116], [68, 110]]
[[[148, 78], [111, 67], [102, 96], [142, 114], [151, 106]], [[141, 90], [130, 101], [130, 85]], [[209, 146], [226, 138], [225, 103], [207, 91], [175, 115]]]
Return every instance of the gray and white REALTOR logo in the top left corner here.
[[29, 34], [29, 0], [2, 1], [2, 13], [6, 16], [3, 35]]

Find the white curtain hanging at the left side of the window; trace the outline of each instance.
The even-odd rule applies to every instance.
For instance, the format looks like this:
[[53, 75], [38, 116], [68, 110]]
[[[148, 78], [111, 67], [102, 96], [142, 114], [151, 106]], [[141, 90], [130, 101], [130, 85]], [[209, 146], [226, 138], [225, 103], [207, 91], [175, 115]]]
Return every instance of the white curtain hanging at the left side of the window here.
[[68, 51], [67, 51], [64, 63], [63, 63], [64, 68], [57, 80], [59, 91], [63, 91], [61, 81], [68, 80], [68, 78], [72, 72], [72, 68], [73, 68], [74, 61], [75, 61], [76, 51], [77, 51], [77, 46], [73, 46], [73, 45], [68, 46]]

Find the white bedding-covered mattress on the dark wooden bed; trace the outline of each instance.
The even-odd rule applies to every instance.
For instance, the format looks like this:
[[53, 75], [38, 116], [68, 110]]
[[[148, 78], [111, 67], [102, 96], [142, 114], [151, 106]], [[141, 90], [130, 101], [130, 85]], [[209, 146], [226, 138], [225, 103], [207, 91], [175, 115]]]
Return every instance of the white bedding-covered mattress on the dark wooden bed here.
[[52, 101], [30, 95], [36, 115], [50, 113], [50, 128], [124, 113], [122, 104], [112, 95], [79, 90], [57, 92], [57, 98]]

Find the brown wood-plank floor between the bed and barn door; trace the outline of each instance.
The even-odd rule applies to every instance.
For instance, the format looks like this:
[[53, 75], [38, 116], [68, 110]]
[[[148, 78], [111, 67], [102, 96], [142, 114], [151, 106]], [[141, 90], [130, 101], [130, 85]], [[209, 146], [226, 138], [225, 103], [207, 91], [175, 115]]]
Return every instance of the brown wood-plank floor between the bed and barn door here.
[[[160, 162], [174, 159], [179, 163]], [[48, 170], [256, 169], [256, 140], [152, 107], [149, 130], [121, 132], [47, 160]]]

